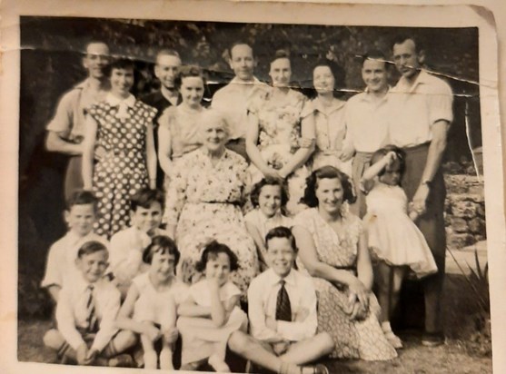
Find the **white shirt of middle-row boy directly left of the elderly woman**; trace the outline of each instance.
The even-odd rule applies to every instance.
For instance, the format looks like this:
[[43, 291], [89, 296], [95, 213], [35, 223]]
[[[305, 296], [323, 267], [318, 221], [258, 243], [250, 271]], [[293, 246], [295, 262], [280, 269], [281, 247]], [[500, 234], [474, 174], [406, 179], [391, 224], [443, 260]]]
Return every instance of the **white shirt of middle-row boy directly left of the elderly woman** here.
[[[167, 231], [154, 229], [154, 235], [170, 236]], [[151, 238], [144, 231], [132, 226], [116, 232], [109, 245], [109, 269], [118, 283], [130, 283], [136, 275], [149, 268], [143, 262], [143, 251], [151, 243]]]

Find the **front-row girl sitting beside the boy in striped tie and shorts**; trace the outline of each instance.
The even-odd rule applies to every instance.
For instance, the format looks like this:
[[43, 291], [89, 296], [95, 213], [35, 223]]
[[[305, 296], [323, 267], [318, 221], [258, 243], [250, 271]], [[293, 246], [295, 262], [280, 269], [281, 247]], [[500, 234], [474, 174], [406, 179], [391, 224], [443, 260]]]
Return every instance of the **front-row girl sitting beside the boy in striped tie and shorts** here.
[[141, 334], [145, 369], [157, 368], [154, 342], [159, 339], [160, 369], [174, 369], [176, 308], [188, 293], [188, 286], [174, 276], [179, 256], [172, 239], [155, 236], [143, 253], [143, 261], [150, 264], [149, 271], [134, 278], [116, 319], [118, 328]]

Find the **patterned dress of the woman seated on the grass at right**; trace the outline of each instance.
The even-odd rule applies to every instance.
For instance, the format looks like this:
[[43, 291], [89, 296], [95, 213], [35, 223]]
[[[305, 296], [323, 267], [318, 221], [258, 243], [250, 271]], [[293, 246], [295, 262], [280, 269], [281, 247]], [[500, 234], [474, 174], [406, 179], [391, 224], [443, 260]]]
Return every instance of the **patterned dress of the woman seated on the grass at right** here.
[[[348, 212], [343, 213], [342, 220], [348, 228], [343, 238], [323, 221], [317, 208], [300, 212], [294, 225], [311, 233], [320, 261], [354, 273], [362, 221]], [[306, 271], [302, 261], [297, 260], [297, 265], [301, 271]], [[335, 343], [332, 358], [380, 360], [397, 357], [395, 349], [383, 335], [378, 321], [380, 306], [372, 294], [369, 310], [362, 310], [361, 319], [350, 320], [345, 312], [348, 290], [322, 278], [313, 278], [313, 281], [318, 293], [318, 332], [331, 334]]]

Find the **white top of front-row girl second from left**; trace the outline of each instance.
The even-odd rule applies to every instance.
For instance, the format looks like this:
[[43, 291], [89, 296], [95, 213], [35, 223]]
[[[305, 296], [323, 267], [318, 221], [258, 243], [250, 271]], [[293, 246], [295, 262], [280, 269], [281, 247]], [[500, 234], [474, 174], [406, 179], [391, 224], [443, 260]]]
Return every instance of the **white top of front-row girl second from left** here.
[[135, 277], [132, 283], [140, 294], [134, 305], [134, 320], [158, 323], [163, 329], [174, 327], [176, 307], [188, 298], [189, 287], [174, 277], [170, 288], [155, 290], [149, 272]]

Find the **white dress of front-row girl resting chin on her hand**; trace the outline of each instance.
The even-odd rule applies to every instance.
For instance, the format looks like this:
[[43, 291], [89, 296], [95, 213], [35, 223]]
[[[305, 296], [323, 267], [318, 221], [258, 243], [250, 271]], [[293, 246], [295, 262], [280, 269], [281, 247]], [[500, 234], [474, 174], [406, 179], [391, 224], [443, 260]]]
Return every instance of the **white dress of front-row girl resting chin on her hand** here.
[[[190, 295], [197, 305], [211, 307], [211, 293], [207, 280], [198, 281], [190, 287]], [[226, 302], [234, 296], [240, 296], [241, 290], [232, 281], [226, 282], [220, 288], [220, 300]], [[217, 354], [225, 359], [228, 338], [233, 331], [247, 330], [248, 319], [246, 313], [239, 307], [234, 307], [229, 319], [222, 327], [216, 327], [210, 318], [179, 317], [177, 329], [183, 339], [181, 364], [207, 359]]]

